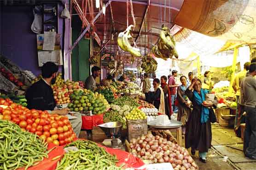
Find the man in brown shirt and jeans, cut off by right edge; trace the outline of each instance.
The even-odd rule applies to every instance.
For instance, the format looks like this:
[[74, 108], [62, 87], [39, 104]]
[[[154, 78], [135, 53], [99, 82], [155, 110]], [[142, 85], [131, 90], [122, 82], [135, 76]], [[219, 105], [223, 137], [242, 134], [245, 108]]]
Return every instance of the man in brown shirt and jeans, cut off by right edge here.
[[256, 62], [250, 64], [249, 74], [241, 82], [246, 110], [244, 130], [244, 155], [256, 159]]

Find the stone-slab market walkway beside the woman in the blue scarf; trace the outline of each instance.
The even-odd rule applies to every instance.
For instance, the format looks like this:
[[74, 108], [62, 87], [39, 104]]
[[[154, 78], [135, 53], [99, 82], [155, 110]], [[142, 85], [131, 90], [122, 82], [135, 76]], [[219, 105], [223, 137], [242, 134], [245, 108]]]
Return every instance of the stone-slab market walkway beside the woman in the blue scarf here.
[[243, 141], [236, 137], [234, 130], [212, 125], [212, 148], [207, 154], [207, 163], [193, 157], [199, 170], [256, 170], [256, 161], [247, 159], [243, 153]]

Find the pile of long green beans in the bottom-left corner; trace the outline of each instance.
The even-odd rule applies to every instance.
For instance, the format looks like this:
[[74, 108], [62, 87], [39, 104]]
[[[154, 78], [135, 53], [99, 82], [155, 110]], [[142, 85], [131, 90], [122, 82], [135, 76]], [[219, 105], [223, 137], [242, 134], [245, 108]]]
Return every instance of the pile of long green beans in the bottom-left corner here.
[[16, 170], [39, 164], [47, 155], [47, 143], [37, 135], [24, 132], [6, 120], [0, 120], [0, 170]]

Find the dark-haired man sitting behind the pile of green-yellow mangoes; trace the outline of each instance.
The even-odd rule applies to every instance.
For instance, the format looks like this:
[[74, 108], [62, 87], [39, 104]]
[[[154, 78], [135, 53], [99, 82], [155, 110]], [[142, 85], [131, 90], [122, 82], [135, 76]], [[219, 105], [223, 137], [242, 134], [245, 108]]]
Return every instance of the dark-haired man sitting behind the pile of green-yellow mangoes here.
[[96, 89], [96, 77], [100, 76], [100, 68], [97, 66], [93, 66], [92, 68], [92, 75], [90, 75], [89, 77], [87, 77], [87, 79], [85, 80], [85, 88], [91, 91], [95, 91]]

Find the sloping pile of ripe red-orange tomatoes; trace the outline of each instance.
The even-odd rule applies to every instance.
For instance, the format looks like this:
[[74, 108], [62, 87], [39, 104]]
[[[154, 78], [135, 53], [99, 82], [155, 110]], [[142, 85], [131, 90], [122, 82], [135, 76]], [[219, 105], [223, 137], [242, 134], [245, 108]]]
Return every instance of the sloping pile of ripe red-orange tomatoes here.
[[[70, 143], [76, 138], [70, 121], [65, 116], [49, 114], [47, 111], [29, 110], [10, 99], [0, 98], [0, 119], [6, 119], [19, 125], [22, 130], [35, 133], [47, 142], [55, 145]], [[4, 106], [4, 107], [3, 107]]]

